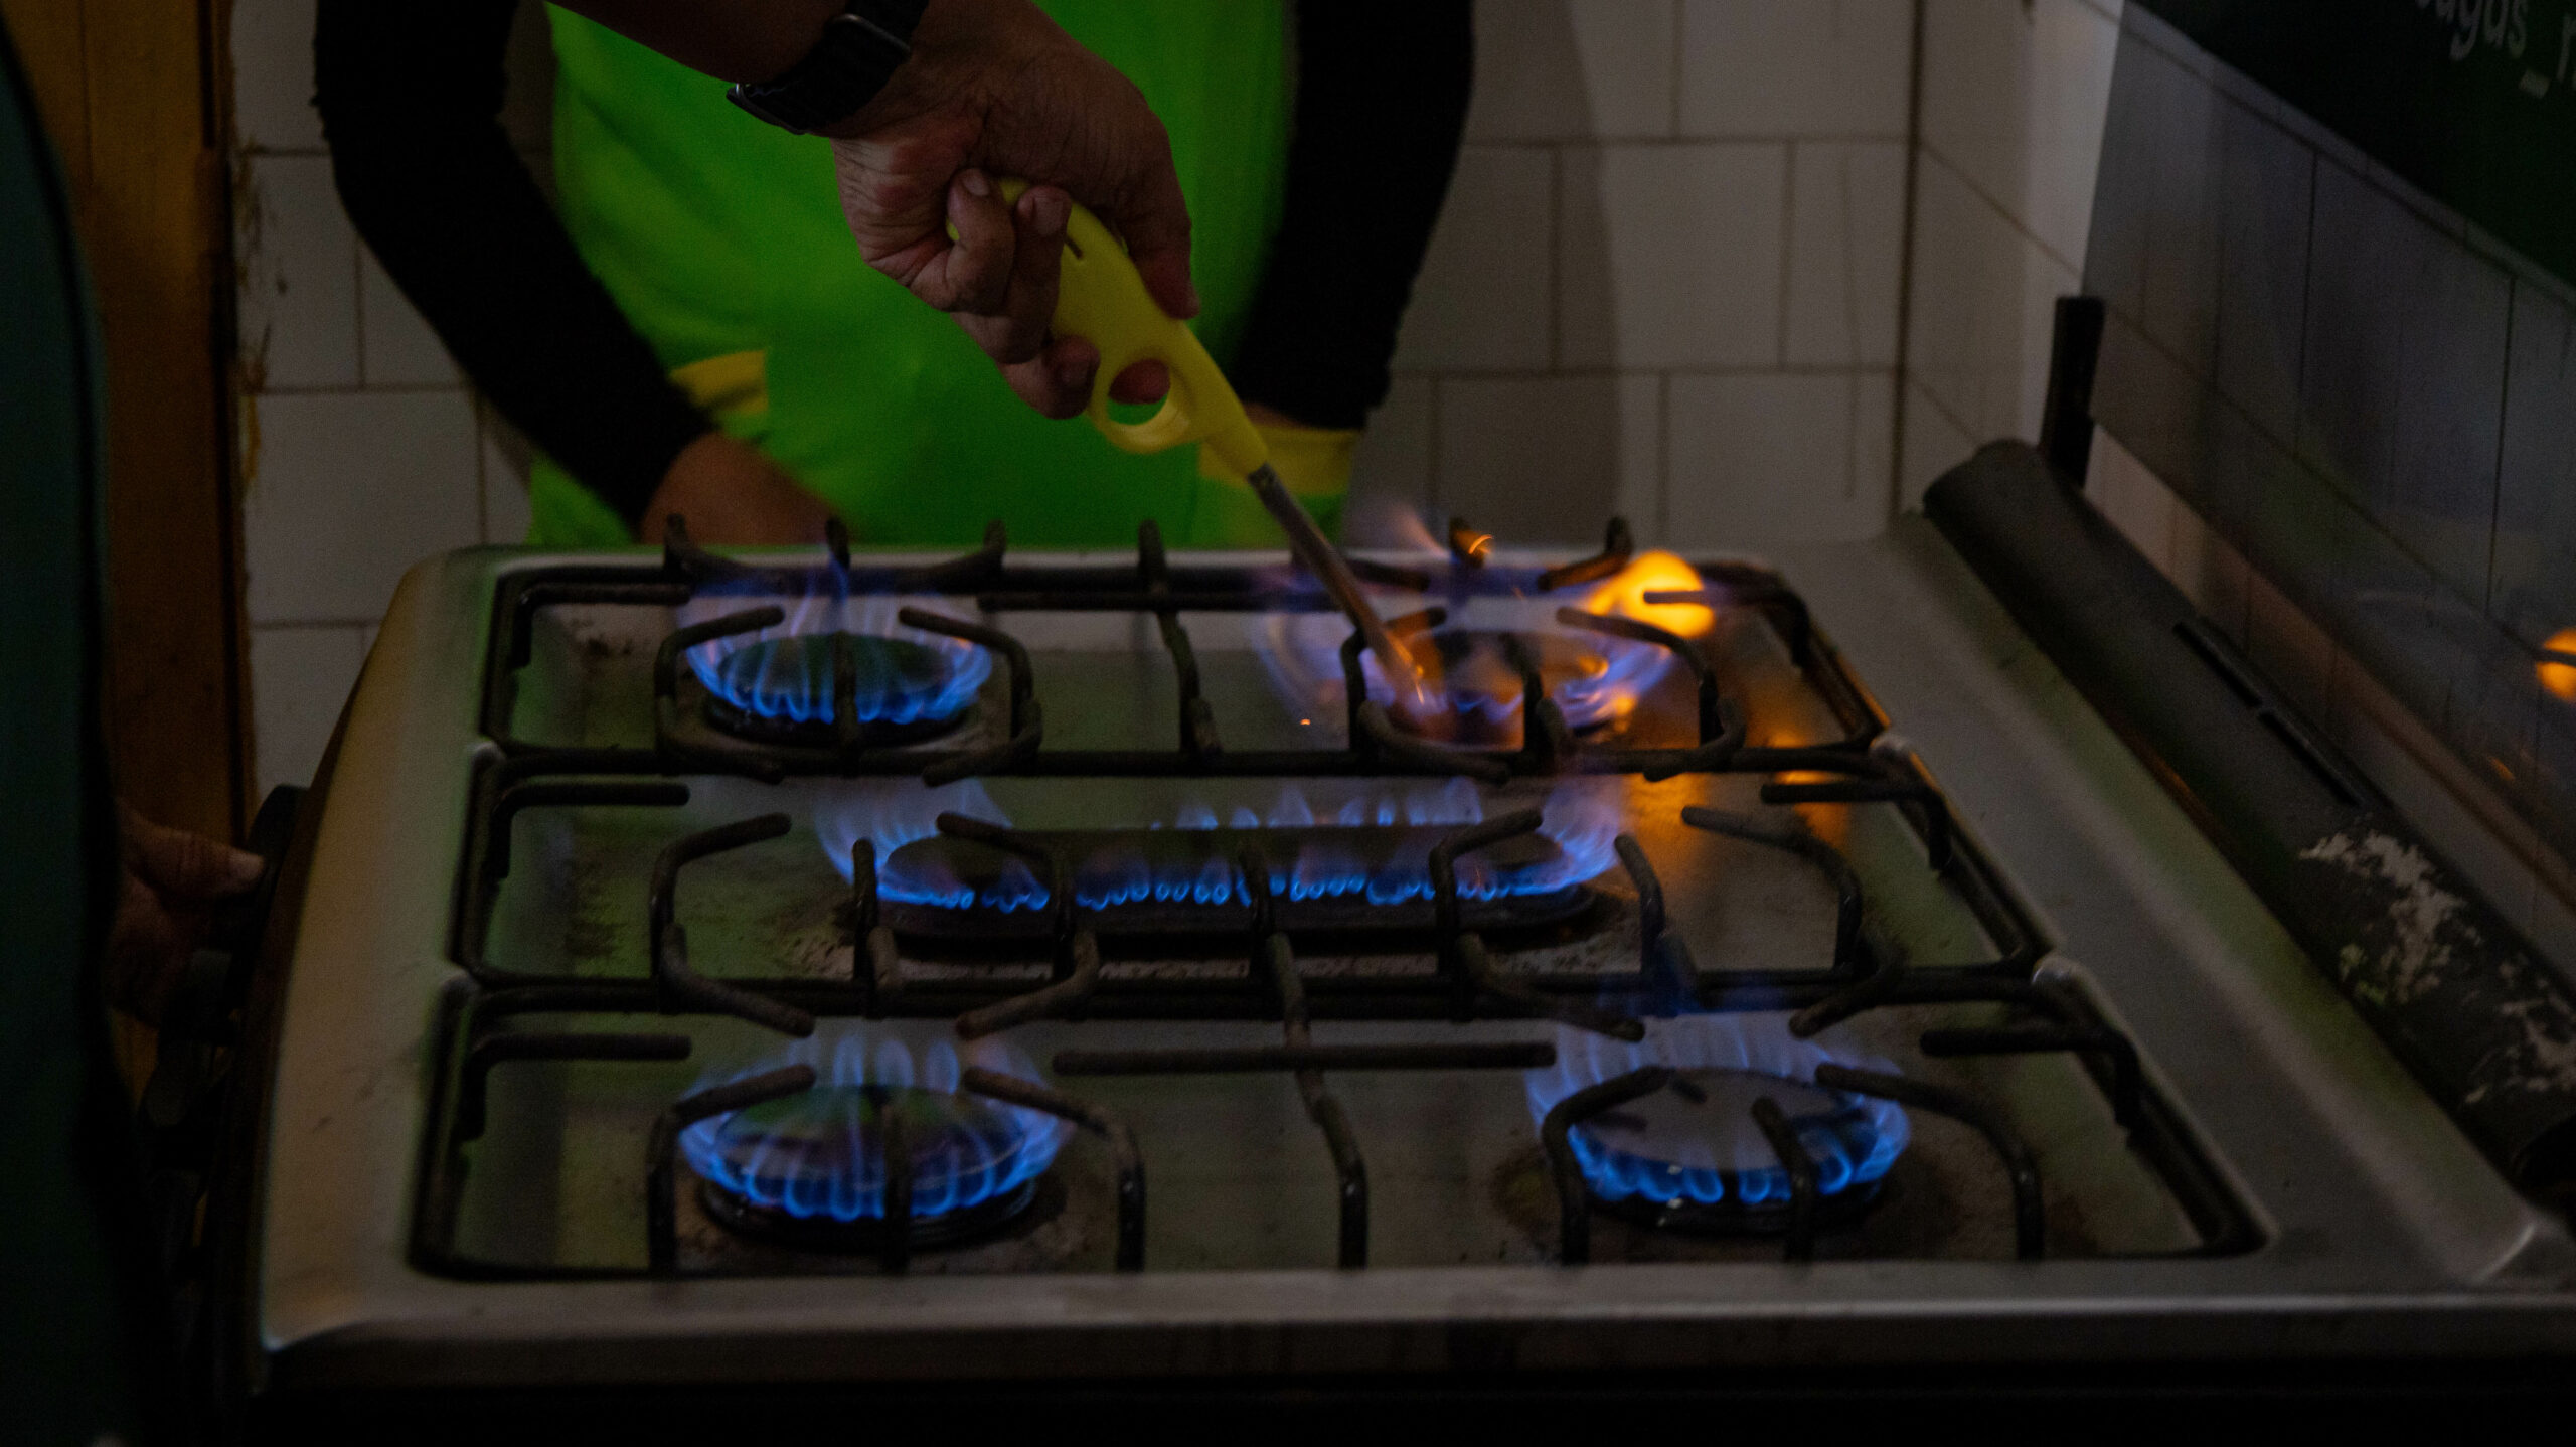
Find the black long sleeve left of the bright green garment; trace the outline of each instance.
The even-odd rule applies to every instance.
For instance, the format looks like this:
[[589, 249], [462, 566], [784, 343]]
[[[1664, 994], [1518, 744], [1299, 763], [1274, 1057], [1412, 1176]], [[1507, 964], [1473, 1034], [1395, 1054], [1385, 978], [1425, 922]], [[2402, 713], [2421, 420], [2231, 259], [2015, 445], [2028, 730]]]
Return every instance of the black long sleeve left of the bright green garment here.
[[474, 384], [629, 528], [711, 422], [582, 265], [500, 126], [518, 0], [319, 0], [340, 203]]

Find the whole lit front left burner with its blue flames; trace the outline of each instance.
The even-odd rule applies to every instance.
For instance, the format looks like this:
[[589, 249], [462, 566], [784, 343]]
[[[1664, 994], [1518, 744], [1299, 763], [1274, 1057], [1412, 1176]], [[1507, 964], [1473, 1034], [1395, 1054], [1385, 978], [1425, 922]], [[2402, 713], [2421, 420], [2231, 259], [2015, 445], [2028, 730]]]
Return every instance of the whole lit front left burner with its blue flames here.
[[[1038, 1079], [1028, 1056], [1002, 1043], [979, 1040], [969, 1053], [989, 1071]], [[891, 1133], [909, 1156], [914, 1244], [956, 1244], [1028, 1210], [1064, 1143], [1066, 1125], [1051, 1115], [958, 1094], [958, 1050], [925, 1027], [827, 1025], [742, 1074], [791, 1063], [814, 1066], [814, 1089], [680, 1133], [708, 1215], [752, 1236], [876, 1249]]]

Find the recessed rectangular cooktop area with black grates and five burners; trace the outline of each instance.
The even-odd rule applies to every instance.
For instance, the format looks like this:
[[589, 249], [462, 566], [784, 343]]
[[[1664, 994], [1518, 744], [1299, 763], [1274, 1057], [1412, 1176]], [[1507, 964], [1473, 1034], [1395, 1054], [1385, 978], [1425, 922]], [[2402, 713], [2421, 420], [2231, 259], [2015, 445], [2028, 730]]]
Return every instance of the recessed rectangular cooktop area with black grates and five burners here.
[[[1151, 528], [1131, 564], [1012, 566], [994, 530], [914, 569], [675, 543], [513, 574], [415, 1262], [2246, 1238], [1777, 577], [1625, 528], [1558, 569], [1365, 574], [1443, 600], [1391, 626], [1453, 664], [1448, 736], [1396, 724], [1291, 574], [1182, 566]], [[2094, 1133], [1991, 1105], [2040, 1076]], [[1321, 1148], [1239, 1159], [1280, 1107]], [[1425, 1174], [1437, 1120], [1473, 1148]], [[1278, 1151], [1311, 1166], [1270, 1182]], [[541, 1241], [507, 1226], [528, 1200], [562, 1200]]]

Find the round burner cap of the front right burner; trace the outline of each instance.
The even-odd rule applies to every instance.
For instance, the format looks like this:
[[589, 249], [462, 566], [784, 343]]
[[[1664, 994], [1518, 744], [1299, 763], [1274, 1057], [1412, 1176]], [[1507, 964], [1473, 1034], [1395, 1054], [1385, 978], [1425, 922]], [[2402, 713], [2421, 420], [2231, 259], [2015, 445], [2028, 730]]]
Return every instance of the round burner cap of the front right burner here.
[[1741, 1069], [1695, 1069], [1664, 1089], [1571, 1130], [1592, 1195], [1623, 1215], [1682, 1231], [1765, 1231], [1788, 1218], [1788, 1172], [1754, 1125], [1754, 1102], [1780, 1105], [1824, 1192], [1826, 1218], [1855, 1218], [1878, 1197], [1901, 1138], [1860, 1097]]

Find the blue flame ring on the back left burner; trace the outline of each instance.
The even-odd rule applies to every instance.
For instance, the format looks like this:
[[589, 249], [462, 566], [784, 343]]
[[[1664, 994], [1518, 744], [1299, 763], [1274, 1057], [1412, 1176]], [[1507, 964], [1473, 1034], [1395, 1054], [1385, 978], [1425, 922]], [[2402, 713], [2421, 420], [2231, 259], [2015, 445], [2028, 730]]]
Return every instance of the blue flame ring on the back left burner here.
[[984, 687], [984, 680], [992, 677], [992, 657], [984, 649], [896, 623], [896, 613], [907, 602], [922, 600], [884, 592], [853, 597], [845, 577], [827, 572], [824, 579], [804, 597], [732, 592], [703, 595], [683, 608], [680, 623], [703, 623], [765, 602], [786, 610], [783, 623], [690, 649], [688, 667], [698, 675], [698, 682], [716, 698], [757, 718], [832, 724], [832, 633], [922, 649], [922, 662], [930, 664], [920, 675], [909, 675], [896, 659], [863, 654], [855, 700], [860, 724], [953, 718], [966, 711], [976, 690]]

